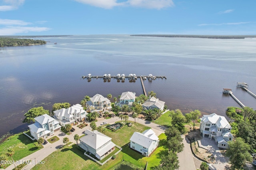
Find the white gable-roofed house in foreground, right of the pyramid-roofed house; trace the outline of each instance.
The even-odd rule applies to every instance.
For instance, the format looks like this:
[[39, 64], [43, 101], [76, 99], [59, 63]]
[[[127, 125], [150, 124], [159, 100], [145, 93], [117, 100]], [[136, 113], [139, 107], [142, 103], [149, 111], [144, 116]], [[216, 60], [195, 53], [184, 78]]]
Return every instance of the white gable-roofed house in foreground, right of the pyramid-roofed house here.
[[130, 138], [129, 147], [140, 152], [144, 156], [150, 156], [158, 147], [159, 140], [152, 129], [142, 133], [134, 132]]

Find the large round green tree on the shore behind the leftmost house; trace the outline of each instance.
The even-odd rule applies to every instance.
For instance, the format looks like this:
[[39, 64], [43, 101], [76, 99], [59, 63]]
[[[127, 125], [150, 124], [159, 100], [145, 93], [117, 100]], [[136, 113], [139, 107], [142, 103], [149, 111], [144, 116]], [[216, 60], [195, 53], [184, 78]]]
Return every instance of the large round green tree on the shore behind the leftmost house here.
[[42, 106], [40, 107], [33, 107], [31, 109], [28, 110], [27, 113], [24, 114], [25, 119], [23, 119], [23, 123], [31, 123], [34, 122], [35, 123], [35, 117], [38, 117], [40, 115], [44, 115], [47, 114], [49, 115], [49, 110], [45, 110]]

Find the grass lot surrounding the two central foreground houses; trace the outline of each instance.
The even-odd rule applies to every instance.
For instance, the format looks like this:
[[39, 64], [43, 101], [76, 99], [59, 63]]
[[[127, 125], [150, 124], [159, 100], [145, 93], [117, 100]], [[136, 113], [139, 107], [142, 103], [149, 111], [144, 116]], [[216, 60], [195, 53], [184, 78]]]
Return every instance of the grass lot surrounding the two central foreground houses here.
[[[150, 167], [158, 166], [160, 163], [160, 154], [166, 150], [163, 146], [158, 147], [154, 153], [148, 158], [142, 156], [142, 154], [129, 149], [128, 143], [130, 142], [130, 137], [132, 134], [137, 132], [143, 132], [146, 129], [150, 129], [144, 125], [139, 123], [132, 123], [132, 127], [128, 127], [125, 125], [122, 129], [119, 129], [116, 132], [112, 132], [107, 129], [106, 135], [112, 138], [112, 142], [116, 145], [122, 147], [122, 151], [116, 155], [115, 160], [109, 160], [103, 166], [98, 165], [96, 162], [90, 160], [90, 158], [84, 155], [84, 152], [80, 149], [76, 148], [76, 144], [72, 146], [65, 146], [63, 149], [58, 149], [57, 151], [53, 152], [51, 155], [46, 157], [43, 161], [45, 164], [36, 165], [33, 170], [70, 170], [70, 169], [78, 169], [78, 170], [109, 170], [124, 161], [128, 161], [134, 166], [137, 166], [140, 169], [144, 169], [146, 162], [148, 162], [148, 169]], [[159, 136], [160, 144], [164, 143], [166, 136], [161, 134]], [[60, 164], [60, 162], [62, 162]]]

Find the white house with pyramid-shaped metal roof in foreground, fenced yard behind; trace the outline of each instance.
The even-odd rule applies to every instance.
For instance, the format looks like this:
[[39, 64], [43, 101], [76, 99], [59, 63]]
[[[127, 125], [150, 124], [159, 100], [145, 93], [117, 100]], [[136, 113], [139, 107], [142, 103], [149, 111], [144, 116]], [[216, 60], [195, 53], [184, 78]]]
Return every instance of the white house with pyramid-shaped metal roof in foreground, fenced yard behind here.
[[79, 146], [84, 149], [87, 154], [93, 154], [99, 160], [102, 160], [106, 155], [115, 149], [110, 137], [94, 130], [84, 131], [85, 136], [79, 139]]

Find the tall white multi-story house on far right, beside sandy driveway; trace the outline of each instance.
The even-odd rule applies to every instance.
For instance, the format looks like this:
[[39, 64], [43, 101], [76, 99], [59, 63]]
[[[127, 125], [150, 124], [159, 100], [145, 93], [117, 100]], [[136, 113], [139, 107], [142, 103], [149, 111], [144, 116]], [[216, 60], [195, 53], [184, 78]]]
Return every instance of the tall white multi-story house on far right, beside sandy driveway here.
[[200, 132], [203, 137], [214, 138], [219, 148], [227, 149], [228, 141], [233, 140], [232, 127], [224, 116], [212, 113], [200, 118]]

